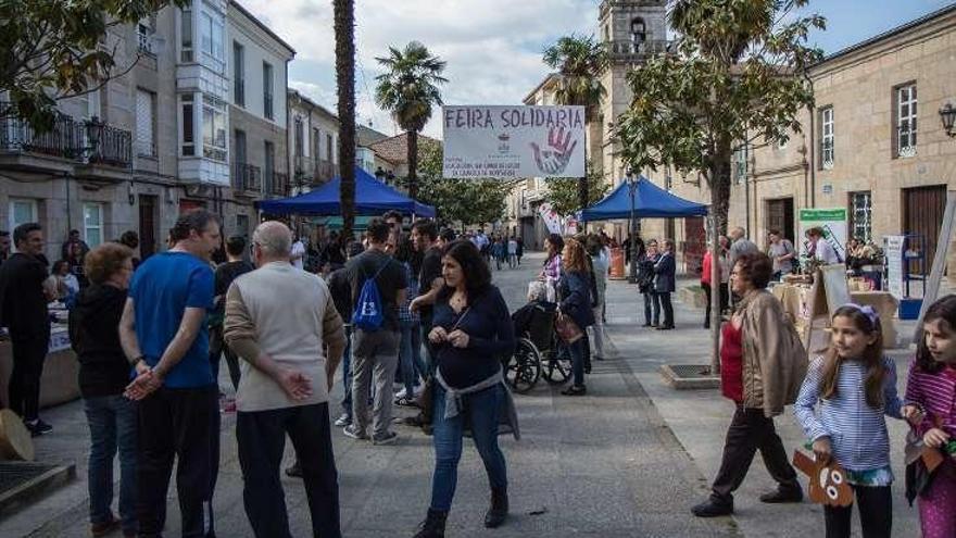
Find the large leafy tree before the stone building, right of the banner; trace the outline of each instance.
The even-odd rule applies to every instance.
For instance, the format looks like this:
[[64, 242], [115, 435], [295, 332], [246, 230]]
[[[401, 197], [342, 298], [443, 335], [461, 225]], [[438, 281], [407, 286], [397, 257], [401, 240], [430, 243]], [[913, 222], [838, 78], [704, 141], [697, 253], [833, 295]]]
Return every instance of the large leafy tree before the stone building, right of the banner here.
[[628, 74], [629, 110], [617, 120], [621, 157], [634, 168], [700, 172], [712, 211], [727, 230], [731, 159], [737, 147], [785, 140], [812, 107], [806, 76], [822, 51], [808, 47], [819, 15], [795, 16], [808, 0], [676, 0], [677, 53]]

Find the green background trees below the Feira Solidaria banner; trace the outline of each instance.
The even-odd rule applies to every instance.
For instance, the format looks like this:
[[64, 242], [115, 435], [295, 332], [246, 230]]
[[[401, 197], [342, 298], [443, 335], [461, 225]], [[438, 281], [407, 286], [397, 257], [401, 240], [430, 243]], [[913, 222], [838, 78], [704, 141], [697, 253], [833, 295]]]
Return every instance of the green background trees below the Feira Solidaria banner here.
[[446, 223], [467, 226], [501, 218], [505, 211], [505, 199], [516, 182], [444, 178], [442, 154], [441, 145], [437, 142], [422, 145], [419, 200], [435, 205], [439, 220]]

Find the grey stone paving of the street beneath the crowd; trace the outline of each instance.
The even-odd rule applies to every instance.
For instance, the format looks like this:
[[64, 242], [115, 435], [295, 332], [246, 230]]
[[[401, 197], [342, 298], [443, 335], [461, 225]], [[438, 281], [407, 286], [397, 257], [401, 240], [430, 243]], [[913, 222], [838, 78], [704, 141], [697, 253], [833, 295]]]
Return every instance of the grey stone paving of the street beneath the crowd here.
[[[540, 254], [532, 254], [518, 270], [494, 273], [513, 310], [524, 302], [526, 284], [541, 261]], [[562, 397], [559, 387], [543, 380], [529, 395], [517, 397], [523, 439], [502, 438], [512, 520], [496, 530], [481, 526], [488, 486], [480, 459], [466, 441], [449, 536], [740, 536], [732, 518], [701, 521], [688, 512], [688, 506], [706, 493], [705, 477], [712, 473], [688, 455], [640, 381], [640, 376], [653, 372], [655, 361], [665, 356], [662, 350], [675, 359], [692, 351], [684, 346], [690, 330], [664, 336], [636, 330], [629, 314], [634, 312], [633, 298], [625, 286], [615, 284], [608, 306], [615, 325], [612, 330], [625, 359], [595, 363], [586, 397]], [[683, 309], [679, 306], [678, 312], [678, 320], [687, 324]], [[223, 370], [221, 383], [226, 387]], [[334, 393], [337, 400], [339, 387], [337, 384]], [[334, 415], [337, 411], [334, 409]], [[39, 458], [76, 462], [77, 480], [0, 521], [0, 536], [88, 536], [88, 431], [81, 404], [61, 405], [43, 416], [56, 429], [37, 440]], [[718, 417], [712, 429], [716, 433], [722, 427]], [[234, 428], [235, 416], [225, 415], [214, 500], [217, 534], [228, 538], [252, 536], [242, 508]], [[392, 447], [373, 447], [334, 431], [347, 537], [408, 537], [425, 514], [433, 464], [430, 438], [402, 426], [397, 430], [401, 437]], [[717, 450], [720, 439], [708, 442]], [[694, 447], [691, 449], [693, 454]], [[287, 461], [291, 458], [288, 447]], [[304, 491], [298, 480], [284, 477], [282, 481], [293, 536], [307, 536]], [[177, 536], [175, 487], [169, 489], [168, 508], [166, 536]]]

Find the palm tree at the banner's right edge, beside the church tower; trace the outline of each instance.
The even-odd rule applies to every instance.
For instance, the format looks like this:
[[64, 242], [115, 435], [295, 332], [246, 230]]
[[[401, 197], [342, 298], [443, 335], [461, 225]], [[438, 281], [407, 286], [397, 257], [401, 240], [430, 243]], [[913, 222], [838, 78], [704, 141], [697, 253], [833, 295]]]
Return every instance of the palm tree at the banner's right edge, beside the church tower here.
[[[607, 68], [608, 57], [604, 43], [593, 36], [562, 37], [544, 49], [544, 64], [557, 70], [559, 77], [555, 99], [561, 104], [584, 107], [584, 122], [590, 124], [594, 111], [607, 95], [599, 76]], [[588, 177], [578, 179], [578, 201], [581, 209], [589, 205]]]

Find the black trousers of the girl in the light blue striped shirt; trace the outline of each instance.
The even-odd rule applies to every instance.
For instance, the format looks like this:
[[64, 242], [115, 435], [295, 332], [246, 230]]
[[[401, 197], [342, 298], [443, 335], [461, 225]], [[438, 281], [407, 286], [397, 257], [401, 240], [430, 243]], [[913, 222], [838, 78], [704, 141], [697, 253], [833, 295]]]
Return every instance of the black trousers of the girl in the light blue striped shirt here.
[[[893, 528], [893, 493], [890, 486], [853, 486], [859, 506], [859, 524], [863, 538], [890, 538]], [[853, 504], [850, 506], [823, 506], [827, 538], [850, 538]]]

